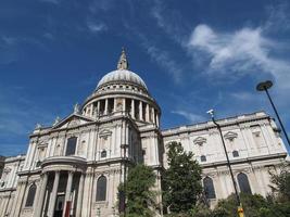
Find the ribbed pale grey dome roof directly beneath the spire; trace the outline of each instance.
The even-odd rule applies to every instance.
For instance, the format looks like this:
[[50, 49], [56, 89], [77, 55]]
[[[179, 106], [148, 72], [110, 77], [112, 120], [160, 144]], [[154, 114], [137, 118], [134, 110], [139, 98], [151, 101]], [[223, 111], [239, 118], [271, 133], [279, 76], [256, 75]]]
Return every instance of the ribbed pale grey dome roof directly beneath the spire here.
[[104, 85], [114, 84], [114, 82], [124, 82], [140, 86], [147, 90], [146, 84], [136, 73], [128, 69], [116, 69], [111, 73], [108, 73], [99, 81], [97, 89]]

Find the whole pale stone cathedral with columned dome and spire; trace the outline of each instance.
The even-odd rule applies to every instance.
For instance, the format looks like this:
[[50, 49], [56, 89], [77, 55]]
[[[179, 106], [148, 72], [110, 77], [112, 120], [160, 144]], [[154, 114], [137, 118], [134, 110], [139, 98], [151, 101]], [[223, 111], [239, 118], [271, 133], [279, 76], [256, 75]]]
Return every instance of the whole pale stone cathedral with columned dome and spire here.
[[[128, 71], [123, 51], [117, 71], [106, 74], [80, 107], [50, 127], [37, 125], [26, 156], [5, 159], [0, 216], [52, 217], [65, 212], [77, 217], [117, 216], [117, 187], [127, 166], [152, 166], [160, 190], [171, 141], [194, 153], [203, 168], [203, 183], [212, 181], [212, 205], [229, 195], [232, 184], [213, 123], [161, 130], [160, 116], [143, 80]], [[265, 196], [268, 170], [279, 170], [287, 156], [274, 120], [257, 112], [218, 122], [237, 182], [239, 176], [245, 177], [251, 192]], [[162, 207], [156, 216], [162, 216]]]

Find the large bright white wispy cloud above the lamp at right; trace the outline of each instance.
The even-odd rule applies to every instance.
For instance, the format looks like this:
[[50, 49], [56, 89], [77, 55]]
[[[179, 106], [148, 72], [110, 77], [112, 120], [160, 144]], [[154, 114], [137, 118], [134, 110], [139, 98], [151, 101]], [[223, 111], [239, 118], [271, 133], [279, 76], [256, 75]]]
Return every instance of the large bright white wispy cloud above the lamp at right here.
[[[290, 65], [272, 56], [281, 44], [263, 36], [262, 28], [244, 27], [237, 31], [218, 33], [210, 26], [198, 25], [188, 41], [191, 53], [199, 52], [209, 60], [206, 73], [223, 78], [238, 78], [250, 74], [272, 75], [281, 88], [290, 88]], [[202, 55], [202, 54], [205, 54]]]

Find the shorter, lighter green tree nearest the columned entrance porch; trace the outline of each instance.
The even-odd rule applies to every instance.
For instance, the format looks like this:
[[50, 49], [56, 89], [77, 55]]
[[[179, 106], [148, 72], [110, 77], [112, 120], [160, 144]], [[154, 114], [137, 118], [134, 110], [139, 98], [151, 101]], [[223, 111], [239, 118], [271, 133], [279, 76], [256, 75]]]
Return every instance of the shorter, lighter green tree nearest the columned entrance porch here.
[[[129, 168], [125, 182], [126, 216], [128, 217], [151, 217], [154, 216], [152, 207], [155, 207], [156, 192], [153, 191], [155, 174], [151, 167], [138, 164]], [[118, 188], [124, 192], [124, 184]]]

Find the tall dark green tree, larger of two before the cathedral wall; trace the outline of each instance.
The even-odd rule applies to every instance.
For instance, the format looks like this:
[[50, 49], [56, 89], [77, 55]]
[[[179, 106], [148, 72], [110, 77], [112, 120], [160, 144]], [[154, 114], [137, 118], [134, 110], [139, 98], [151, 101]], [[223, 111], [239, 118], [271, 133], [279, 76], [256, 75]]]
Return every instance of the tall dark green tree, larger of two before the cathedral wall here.
[[167, 149], [168, 169], [162, 180], [164, 207], [173, 214], [187, 214], [202, 192], [201, 167], [180, 143], [171, 142]]

